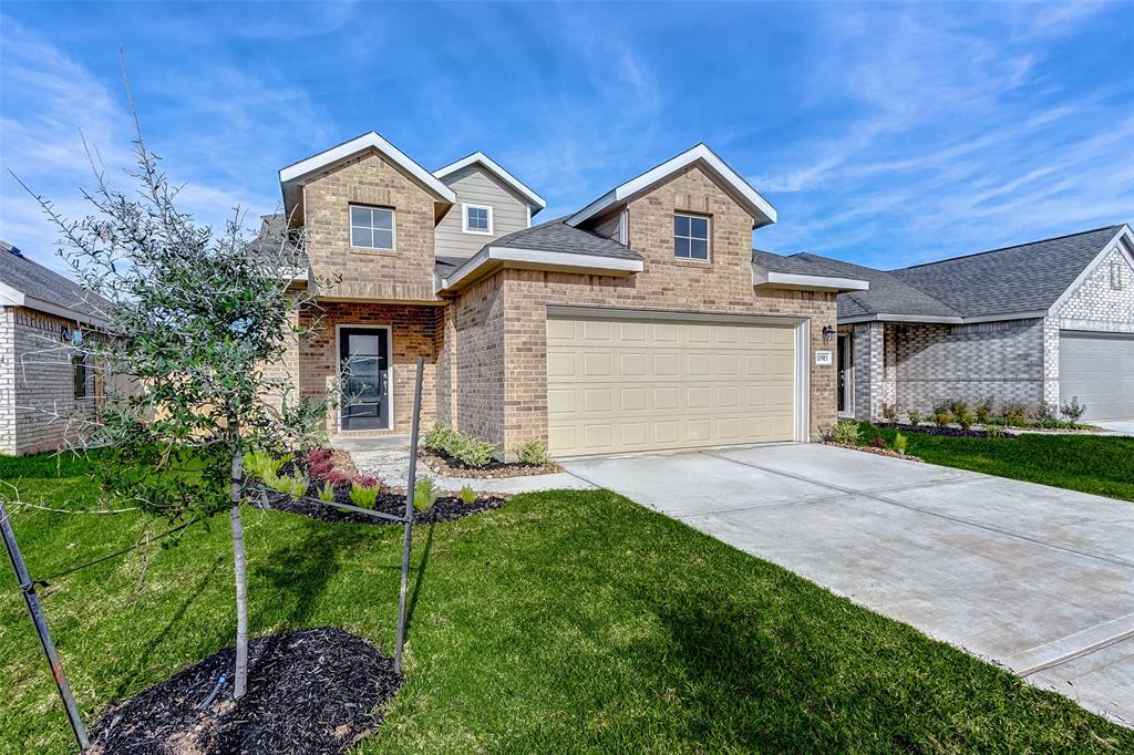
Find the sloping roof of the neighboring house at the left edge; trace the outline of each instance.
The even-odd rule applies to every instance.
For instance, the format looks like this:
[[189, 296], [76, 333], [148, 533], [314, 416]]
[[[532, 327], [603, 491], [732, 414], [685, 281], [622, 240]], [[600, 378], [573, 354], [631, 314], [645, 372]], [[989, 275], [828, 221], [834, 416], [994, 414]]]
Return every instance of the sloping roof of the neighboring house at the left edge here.
[[110, 303], [0, 241], [0, 304], [23, 306], [91, 324], [105, 324]]

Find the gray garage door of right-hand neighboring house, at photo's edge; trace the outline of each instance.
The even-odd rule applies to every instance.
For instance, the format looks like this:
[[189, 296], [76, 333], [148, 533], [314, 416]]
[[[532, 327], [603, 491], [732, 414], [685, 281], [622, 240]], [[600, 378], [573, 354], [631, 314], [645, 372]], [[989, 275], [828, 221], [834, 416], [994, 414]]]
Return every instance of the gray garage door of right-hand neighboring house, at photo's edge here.
[[1086, 402], [1084, 419], [1134, 419], [1134, 336], [1059, 334], [1059, 400]]

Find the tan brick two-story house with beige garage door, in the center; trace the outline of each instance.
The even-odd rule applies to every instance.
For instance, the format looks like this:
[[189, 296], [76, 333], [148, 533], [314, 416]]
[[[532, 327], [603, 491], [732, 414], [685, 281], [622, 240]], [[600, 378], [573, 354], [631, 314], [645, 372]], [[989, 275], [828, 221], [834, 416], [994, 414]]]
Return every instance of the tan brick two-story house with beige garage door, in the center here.
[[866, 283], [755, 275], [752, 231], [776, 211], [704, 145], [538, 226], [544, 201], [485, 155], [431, 172], [373, 132], [279, 179], [316, 288], [299, 316], [319, 323], [287, 371], [313, 396], [350, 358], [333, 434], [406, 432], [417, 357], [425, 422], [503, 457], [532, 440], [559, 456], [807, 440], [835, 422], [823, 333], [838, 292]]

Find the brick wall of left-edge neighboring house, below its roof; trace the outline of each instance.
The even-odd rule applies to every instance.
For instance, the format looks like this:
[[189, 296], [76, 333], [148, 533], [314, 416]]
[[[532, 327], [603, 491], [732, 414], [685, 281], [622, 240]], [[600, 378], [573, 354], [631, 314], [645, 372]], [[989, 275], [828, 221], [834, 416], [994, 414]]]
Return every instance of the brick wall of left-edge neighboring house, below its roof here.
[[75, 398], [73, 349], [60, 338], [73, 321], [25, 307], [0, 316], [0, 452], [50, 451], [76, 434], [101, 381], [87, 370], [86, 398]]

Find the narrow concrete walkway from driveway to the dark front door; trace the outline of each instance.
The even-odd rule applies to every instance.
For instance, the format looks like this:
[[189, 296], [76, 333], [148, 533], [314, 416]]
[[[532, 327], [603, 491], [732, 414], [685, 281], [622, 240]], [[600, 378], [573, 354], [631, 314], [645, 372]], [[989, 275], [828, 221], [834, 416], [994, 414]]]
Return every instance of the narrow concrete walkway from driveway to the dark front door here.
[[[391, 487], [405, 487], [409, 477], [409, 441], [401, 435], [375, 439], [345, 439], [333, 442], [336, 448], [350, 452], [358, 470], [374, 475]], [[531, 493], [542, 490], [593, 490], [594, 485], [568, 473], [531, 475], [526, 477], [447, 477], [433, 473], [424, 464], [417, 465], [417, 475], [429, 475], [442, 491], [456, 492], [471, 485], [477, 493]]]

